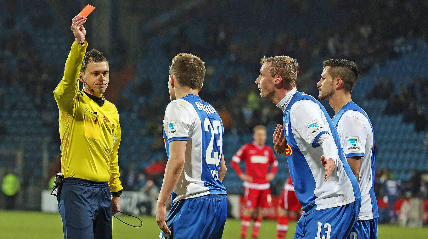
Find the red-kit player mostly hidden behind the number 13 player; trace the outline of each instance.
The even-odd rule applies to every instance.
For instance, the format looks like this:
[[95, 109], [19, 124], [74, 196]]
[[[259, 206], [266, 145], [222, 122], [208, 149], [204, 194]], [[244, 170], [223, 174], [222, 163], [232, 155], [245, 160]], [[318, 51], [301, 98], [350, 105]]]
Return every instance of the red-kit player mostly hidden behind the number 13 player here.
[[288, 218], [291, 214], [294, 214], [294, 218], [297, 218], [300, 212], [301, 205], [297, 200], [296, 192], [294, 192], [293, 183], [291, 177], [288, 175], [288, 179], [282, 189], [281, 197], [279, 198], [278, 206], [278, 224], [276, 224], [276, 238], [285, 239], [285, 234], [288, 231]]

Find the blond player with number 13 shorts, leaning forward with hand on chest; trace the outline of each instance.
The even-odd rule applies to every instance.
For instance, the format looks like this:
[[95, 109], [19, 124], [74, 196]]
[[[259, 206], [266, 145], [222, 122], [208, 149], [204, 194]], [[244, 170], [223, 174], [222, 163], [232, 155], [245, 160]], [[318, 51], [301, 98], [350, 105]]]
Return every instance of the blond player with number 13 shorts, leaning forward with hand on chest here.
[[303, 215], [294, 238], [345, 239], [357, 220], [361, 194], [346, 162], [336, 128], [324, 106], [299, 92], [297, 62], [288, 56], [262, 59], [256, 84], [262, 97], [282, 109], [273, 133], [276, 153], [288, 169]]

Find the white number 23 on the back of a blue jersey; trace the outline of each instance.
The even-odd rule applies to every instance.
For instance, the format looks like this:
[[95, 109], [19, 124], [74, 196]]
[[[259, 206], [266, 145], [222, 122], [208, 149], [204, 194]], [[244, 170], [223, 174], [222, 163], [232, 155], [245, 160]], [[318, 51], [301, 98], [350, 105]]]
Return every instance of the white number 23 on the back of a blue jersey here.
[[[211, 124], [211, 121], [208, 118], [205, 118], [204, 130], [205, 132], [211, 132], [211, 139], [208, 143], [207, 149], [205, 150], [207, 164], [216, 165], [216, 167], [218, 167], [223, 155], [223, 127], [221, 126], [220, 121], [214, 120], [213, 124]], [[216, 146], [216, 149], [220, 148], [218, 152], [214, 150], [214, 145]]]

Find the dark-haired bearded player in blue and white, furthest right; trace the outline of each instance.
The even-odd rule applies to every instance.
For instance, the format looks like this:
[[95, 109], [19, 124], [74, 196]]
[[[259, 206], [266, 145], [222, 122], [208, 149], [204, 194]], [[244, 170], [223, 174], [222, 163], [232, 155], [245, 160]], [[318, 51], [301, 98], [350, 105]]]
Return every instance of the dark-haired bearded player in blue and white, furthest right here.
[[375, 137], [369, 116], [351, 98], [358, 68], [353, 61], [338, 59], [326, 60], [323, 66], [317, 83], [319, 98], [328, 100], [334, 110], [333, 124], [361, 191], [360, 213], [349, 238], [376, 239]]

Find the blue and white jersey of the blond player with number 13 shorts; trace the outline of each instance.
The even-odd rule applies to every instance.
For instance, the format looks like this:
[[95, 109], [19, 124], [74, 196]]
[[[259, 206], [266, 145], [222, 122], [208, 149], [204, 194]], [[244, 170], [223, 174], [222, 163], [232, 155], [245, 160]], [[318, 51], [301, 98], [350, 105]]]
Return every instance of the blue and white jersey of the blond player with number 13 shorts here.
[[[315, 210], [339, 207], [361, 198], [358, 182], [346, 161], [339, 135], [324, 106], [314, 97], [296, 88], [277, 104], [284, 112], [284, 132], [287, 135], [288, 168], [297, 199], [304, 214]], [[324, 154], [318, 139], [330, 134], [336, 143], [336, 169], [324, 182]]]

